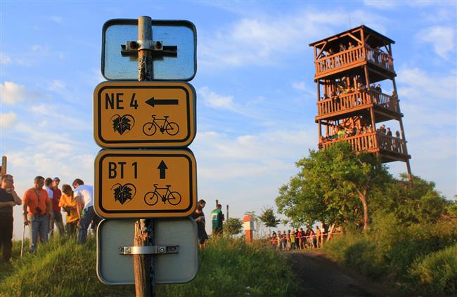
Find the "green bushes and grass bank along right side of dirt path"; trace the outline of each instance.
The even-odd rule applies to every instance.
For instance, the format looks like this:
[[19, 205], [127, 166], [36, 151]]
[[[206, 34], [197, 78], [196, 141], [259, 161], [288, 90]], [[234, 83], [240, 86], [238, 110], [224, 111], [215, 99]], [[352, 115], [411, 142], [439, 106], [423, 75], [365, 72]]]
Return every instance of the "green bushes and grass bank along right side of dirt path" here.
[[455, 286], [436, 284], [437, 279], [455, 282], [456, 244], [457, 220], [404, 226], [394, 216], [385, 216], [368, 232], [348, 232], [324, 250], [338, 263], [373, 279], [396, 282], [405, 291], [457, 293]]

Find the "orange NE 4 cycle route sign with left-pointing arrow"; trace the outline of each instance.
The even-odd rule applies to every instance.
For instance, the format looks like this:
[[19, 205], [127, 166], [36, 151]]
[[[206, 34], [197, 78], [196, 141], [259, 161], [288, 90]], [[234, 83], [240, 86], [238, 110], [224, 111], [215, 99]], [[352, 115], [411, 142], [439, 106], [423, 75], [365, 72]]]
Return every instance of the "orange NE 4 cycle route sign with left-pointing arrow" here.
[[101, 147], [186, 147], [195, 138], [195, 89], [169, 81], [98, 84], [94, 138]]

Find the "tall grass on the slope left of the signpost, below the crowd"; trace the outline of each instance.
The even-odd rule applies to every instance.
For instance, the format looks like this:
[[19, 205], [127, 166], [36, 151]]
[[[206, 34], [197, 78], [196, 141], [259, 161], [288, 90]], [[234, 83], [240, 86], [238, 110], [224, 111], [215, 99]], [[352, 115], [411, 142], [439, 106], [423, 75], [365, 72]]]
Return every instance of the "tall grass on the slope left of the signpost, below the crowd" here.
[[[131, 286], [105, 286], [96, 276], [96, 242], [92, 237], [85, 245], [75, 239], [53, 237], [39, 245], [37, 253], [18, 258], [15, 242], [13, 263], [4, 264], [10, 273], [0, 279], [0, 296], [132, 296]], [[19, 251], [18, 251], [19, 250]]]

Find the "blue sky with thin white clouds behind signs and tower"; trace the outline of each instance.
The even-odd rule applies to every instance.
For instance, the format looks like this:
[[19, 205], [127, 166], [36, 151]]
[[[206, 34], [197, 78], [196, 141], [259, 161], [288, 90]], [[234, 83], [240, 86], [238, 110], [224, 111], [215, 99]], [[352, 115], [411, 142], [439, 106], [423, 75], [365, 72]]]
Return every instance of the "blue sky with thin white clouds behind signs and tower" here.
[[[92, 92], [112, 18], [190, 20], [198, 32], [198, 196], [231, 216], [273, 206], [317, 143], [308, 46], [367, 25], [392, 51], [413, 174], [457, 193], [456, 1], [0, 2], [1, 140], [20, 196], [34, 176], [94, 180]], [[387, 81], [383, 91], [392, 91]], [[397, 130], [394, 122], [387, 123]], [[390, 164], [394, 176], [404, 163]], [[15, 208], [15, 230], [20, 227]], [[15, 232], [17, 233], [17, 232]], [[16, 234], [18, 235], [18, 234]]]

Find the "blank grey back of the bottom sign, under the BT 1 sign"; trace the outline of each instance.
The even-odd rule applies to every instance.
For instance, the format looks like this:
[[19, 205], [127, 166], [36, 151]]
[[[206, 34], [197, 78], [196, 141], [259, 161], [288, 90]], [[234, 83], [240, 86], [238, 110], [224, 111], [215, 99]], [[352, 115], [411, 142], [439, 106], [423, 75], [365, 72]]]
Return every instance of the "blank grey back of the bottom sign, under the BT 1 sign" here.
[[[127, 246], [131, 247], [132, 244], [135, 221], [102, 220], [98, 225], [97, 276], [104, 284], [135, 284], [133, 256], [125, 253]], [[156, 218], [154, 230], [157, 248], [150, 250], [157, 253], [154, 257], [155, 283], [191, 282], [198, 272], [198, 237], [195, 221], [191, 218]], [[160, 248], [164, 246], [173, 251], [160, 252]]]

